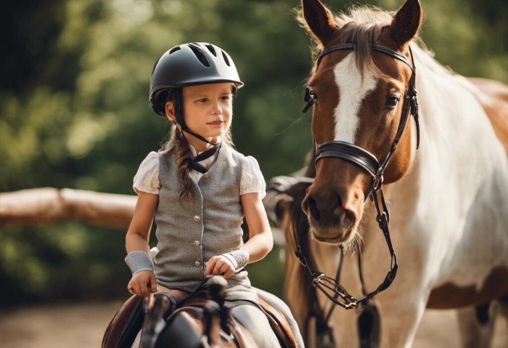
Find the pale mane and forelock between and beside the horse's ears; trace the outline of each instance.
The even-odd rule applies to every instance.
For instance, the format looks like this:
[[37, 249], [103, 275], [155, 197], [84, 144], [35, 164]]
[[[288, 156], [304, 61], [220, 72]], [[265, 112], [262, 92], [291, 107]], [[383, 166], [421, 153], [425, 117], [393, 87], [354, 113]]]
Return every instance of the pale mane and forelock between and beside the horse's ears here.
[[[301, 27], [311, 33], [311, 30], [303, 17], [302, 9], [295, 9], [297, 14], [297, 21]], [[383, 27], [390, 25], [395, 11], [385, 11], [374, 6], [353, 5], [345, 12], [334, 15], [334, 21], [337, 27], [340, 28], [341, 42], [352, 43], [357, 45], [355, 54], [355, 61], [358, 69], [362, 72], [369, 69], [377, 76], [383, 77], [384, 74], [374, 64], [372, 60], [372, 50], [370, 45], [378, 43], [379, 34]], [[323, 50], [323, 44], [317, 40], [313, 35], [310, 35], [312, 46], [312, 58], [315, 59]], [[419, 64], [425, 65], [430, 70], [440, 74], [453, 74], [451, 69], [443, 67], [434, 59], [434, 53], [427, 49], [423, 41], [417, 35], [412, 43], [411, 49], [416, 56], [418, 56]], [[315, 69], [315, 64], [313, 69]], [[314, 73], [315, 71], [312, 71]]]

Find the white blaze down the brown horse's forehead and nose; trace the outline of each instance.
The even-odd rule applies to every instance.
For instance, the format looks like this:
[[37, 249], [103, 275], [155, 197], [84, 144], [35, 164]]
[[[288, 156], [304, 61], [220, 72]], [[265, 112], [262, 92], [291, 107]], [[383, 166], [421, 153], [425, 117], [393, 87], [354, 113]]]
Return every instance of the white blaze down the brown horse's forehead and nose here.
[[360, 123], [358, 111], [362, 101], [377, 84], [371, 71], [365, 70], [363, 81], [356, 66], [354, 53], [348, 54], [334, 68], [335, 82], [339, 87], [340, 102], [335, 108], [335, 139], [354, 143]]

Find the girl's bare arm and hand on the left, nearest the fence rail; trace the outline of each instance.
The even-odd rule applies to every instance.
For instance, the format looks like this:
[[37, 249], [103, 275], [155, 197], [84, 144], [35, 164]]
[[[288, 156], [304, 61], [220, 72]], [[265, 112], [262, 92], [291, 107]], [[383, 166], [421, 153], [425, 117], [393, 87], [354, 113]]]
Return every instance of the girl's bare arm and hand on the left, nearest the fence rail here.
[[[136, 209], [132, 217], [131, 225], [125, 236], [125, 249], [127, 254], [135, 250], [141, 250], [150, 255], [148, 240], [153, 223], [153, 215], [157, 208], [158, 195], [139, 192]], [[127, 286], [131, 294], [147, 297], [149, 291], [157, 291], [155, 275], [152, 271], [143, 270], [136, 272]]]

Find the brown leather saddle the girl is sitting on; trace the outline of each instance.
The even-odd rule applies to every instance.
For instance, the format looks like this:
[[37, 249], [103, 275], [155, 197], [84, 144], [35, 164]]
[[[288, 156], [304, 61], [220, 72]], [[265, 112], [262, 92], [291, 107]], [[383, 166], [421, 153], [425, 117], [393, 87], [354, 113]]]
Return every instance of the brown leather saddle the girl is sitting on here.
[[[259, 308], [266, 315], [280, 346], [296, 348], [295, 338], [284, 315], [264, 299], [258, 297], [257, 302], [244, 299], [223, 302], [230, 307], [249, 304]], [[154, 346], [162, 347], [165, 345], [160, 342], [170, 341], [171, 346], [178, 347], [257, 347], [248, 331], [222, 307], [217, 301], [209, 299], [206, 289], [185, 299], [178, 308], [172, 306], [164, 314], [166, 324]], [[102, 348], [131, 348], [143, 327], [143, 308], [143, 298], [137, 295], [125, 301], [104, 333]], [[224, 318], [225, 315], [227, 318]]]

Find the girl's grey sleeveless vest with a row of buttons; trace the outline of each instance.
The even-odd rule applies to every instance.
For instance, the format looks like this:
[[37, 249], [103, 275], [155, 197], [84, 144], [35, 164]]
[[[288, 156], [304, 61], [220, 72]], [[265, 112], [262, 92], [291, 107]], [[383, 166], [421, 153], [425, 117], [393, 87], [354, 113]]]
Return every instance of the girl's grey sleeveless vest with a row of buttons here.
[[[169, 289], [192, 292], [205, 278], [205, 262], [243, 245], [240, 180], [243, 155], [223, 144], [215, 163], [199, 182], [192, 183], [192, 204], [179, 199], [182, 183], [176, 160], [159, 152], [161, 189], [155, 223], [157, 248], [154, 273]], [[227, 278], [228, 287], [250, 286], [247, 272]]]

